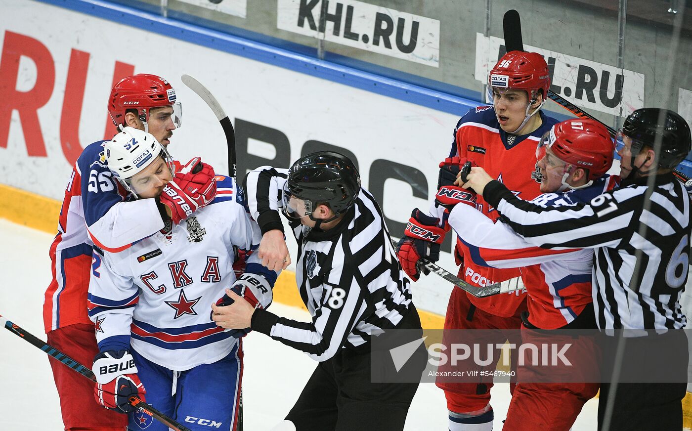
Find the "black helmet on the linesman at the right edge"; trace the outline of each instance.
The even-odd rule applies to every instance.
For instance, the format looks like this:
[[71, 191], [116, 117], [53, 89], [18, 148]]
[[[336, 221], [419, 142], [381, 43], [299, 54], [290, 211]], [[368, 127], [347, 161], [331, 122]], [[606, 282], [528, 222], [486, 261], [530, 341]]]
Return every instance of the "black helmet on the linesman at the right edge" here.
[[659, 166], [663, 168], [677, 166], [692, 147], [689, 125], [678, 113], [668, 109], [637, 109], [625, 120], [622, 134], [632, 138], [633, 156], [639, 154], [644, 145], [653, 148], [657, 136], [660, 136], [658, 158]]

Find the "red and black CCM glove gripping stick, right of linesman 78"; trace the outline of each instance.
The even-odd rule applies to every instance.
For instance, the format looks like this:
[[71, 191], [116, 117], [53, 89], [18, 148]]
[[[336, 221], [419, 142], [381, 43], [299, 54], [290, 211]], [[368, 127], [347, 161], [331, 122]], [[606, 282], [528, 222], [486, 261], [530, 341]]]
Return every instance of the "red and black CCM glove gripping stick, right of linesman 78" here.
[[397, 257], [401, 262], [401, 268], [414, 282], [418, 281], [421, 270], [424, 274], [430, 270], [422, 266], [420, 259], [425, 258], [430, 262], [439, 259], [439, 245], [444, 240], [444, 228], [437, 226], [439, 219], [422, 213], [418, 208], [413, 210], [408, 219], [404, 237], [397, 244]]

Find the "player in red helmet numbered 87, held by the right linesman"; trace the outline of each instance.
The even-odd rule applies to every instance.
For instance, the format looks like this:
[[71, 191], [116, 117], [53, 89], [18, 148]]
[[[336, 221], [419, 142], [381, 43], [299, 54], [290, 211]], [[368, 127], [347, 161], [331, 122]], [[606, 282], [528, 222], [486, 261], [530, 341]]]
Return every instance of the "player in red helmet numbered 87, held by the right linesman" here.
[[[619, 181], [619, 177], [605, 174], [612, 165], [614, 143], [608, 129], [595, 120], [558, 123], [543, 136], [536, 156], [542, 180], [540, 191], [544, 193], [531, 202], [544, 207], [589, 202]], [[482, 167], [473, 170], [481, 172]], [[438, 193], [438, 199], [444, 200], [444, 194]], [[532, 367], [531, 358], [524, 358], [526, 365], [518, 369], [519, 381], [504, 429], [570, 430], [584, 403], [599, 389], [600, 349], [592, 336], [585, 336], [585, 332], [578, 336], [577, 331], [571, 331], [597, 329], [592, 250], [532, 246], [502, 221], [493, 224], [469, 205], [453, 207], [448, 223], [471, 250], [468, 258], [476, 264], [521, 267], [528, 292], [528, 311], [522, 314], [522, 342], [537, 346], [563, 341], [569, 344], [572, 364], [565, 367], [569, 368], [567, 373], [558, 367]], [[570, 330], [570, 336], [563, 335], [565, 329]]]

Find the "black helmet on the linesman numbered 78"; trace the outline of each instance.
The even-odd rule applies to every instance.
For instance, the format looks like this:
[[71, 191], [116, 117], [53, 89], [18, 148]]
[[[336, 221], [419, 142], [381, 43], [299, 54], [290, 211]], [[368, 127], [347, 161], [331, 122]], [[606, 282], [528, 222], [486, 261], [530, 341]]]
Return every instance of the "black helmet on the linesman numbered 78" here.
[[338, 215], [351, 208], [360, 191], [361, 176], [351, 159], [337, 152], [322, 151], [302, 156], [293, 163], [284, 187], [284, 199], [295, 196], [309, 203], [306, 215], [311, 216], [320, 203], [327, 203]]

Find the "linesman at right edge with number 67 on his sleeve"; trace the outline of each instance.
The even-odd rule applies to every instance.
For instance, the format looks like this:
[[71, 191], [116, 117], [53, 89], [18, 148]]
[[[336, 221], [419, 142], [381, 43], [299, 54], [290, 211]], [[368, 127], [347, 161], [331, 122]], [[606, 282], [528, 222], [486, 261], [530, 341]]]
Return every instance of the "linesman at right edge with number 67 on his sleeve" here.
[[[610, 381], [601, 385], [599, 430], [679, 431], [688, 360], [680, 293], [688, 274], [691, 212], [689, 195], [672, 171], [691, 149], [690, 129], [673, 111], [637, 109], [617, 141], [620, 187], [589, 204], [541, 208], [480, 168], [471, 170], [464, 186], [482, 193], [503, 221], [536, 246], [594, 248], [597, 324], [605, 336], [615, 330], [623, 335], [617, 342], [606, 337], [612, 341], [605, 344], [617, 348], [603, 358], [603, 378]], [[654, 345], [678, 349], [664, 354]], [[657, 368], [673, 373], [668, 376], [680, 376], [678, 383], [618, 383], [623, 369], [652, 357]]]

